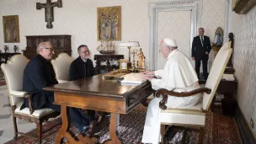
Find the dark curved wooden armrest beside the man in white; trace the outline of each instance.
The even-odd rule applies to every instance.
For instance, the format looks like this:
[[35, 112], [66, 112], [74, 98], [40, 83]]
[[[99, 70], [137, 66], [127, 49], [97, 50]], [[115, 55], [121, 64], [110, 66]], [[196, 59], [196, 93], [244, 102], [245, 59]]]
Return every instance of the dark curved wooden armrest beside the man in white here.
[[163, 96], [163, 99], [159, 102], [159, 108], [160, 109], [167, 109], [167, 104], [168, 101], [168, 95], [174, 96], [174, 97], [189, 97], [198, 93], [211, 93], [210, 88], [197, 88], [193, 91], [190, 92], [183, 92], [183, 93], [177, 93], [173, 91], [168, 91], [167, 89], [158, 89], [157, 92], [155, 93], [155, 96], [159, 98], [160, 96]]

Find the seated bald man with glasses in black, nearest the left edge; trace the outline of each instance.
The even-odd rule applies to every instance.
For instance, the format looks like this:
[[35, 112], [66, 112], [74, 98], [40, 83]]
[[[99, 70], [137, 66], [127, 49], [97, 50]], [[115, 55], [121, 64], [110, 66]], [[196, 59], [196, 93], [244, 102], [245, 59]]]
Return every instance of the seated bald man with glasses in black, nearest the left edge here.
[[[37, 55], [32, 58], [24, 69], [23, 90], [32, 94], [34, 109], [50, 108], [61, 112], [61, 106], [52, 104], [54, 93], [43, 88], [57, 84], [56, 74], [51, 65], [54, 49], [50, 42], [42, 42], [37, 46]], [[63, 61], [65, 62], [65, 61]], [[29, 107], [28, 99], [24, 99], [24, 106]], [[69, 108], [73, 124], [81, 132], [88, 131], [94, 118], [83, 114], [81, 109]]]

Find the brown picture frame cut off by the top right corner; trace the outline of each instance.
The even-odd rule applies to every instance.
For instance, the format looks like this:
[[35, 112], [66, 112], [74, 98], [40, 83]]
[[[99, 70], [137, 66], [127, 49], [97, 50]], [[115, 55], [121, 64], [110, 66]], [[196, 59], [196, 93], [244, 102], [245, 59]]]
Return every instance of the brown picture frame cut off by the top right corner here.
[[255, 4], [255, 0], [232, 0], [232, 9], [235, 13], [246, 14]]

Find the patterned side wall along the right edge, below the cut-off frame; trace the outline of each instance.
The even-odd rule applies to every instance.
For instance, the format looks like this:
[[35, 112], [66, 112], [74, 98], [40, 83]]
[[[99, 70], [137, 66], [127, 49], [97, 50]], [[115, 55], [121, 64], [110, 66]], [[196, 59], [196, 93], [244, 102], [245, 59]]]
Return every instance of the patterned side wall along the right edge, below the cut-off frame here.
[[[246, 14], [232, 13], [233, 65], [238, 81], [237, 102], [246, 119], [256, 113], [256, 6]], [[255, 122], [255, 121], [254, 121]]]

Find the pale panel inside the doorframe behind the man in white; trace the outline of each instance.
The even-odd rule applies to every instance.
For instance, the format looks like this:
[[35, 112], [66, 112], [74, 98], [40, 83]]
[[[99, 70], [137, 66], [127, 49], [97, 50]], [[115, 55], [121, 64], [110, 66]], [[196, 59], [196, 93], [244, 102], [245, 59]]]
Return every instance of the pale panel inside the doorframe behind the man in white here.
[[[179, 51], [190, 56], [190, 12], [191, 11], [171, 11], [158, 12], [157, 25], [157, 45], [165, 37], [174, 38], [177, 42]], [[177, 30], [179, 29], [179, 30]], [[160, 46], [158, 46], [160, 49]], [[157, 69], [163, 69], [165, 61], [162, 53], [157, 53]]]

